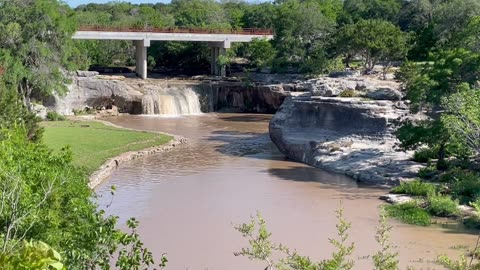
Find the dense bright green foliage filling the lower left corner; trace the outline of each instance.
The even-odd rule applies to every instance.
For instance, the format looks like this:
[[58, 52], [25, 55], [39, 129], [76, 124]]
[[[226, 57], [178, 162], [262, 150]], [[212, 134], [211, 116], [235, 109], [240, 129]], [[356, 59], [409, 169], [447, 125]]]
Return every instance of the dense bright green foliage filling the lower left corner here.
[[53, 154], [44, 144], [27, 140], [18, 126], [0, 130], [0, 253], [5, 267], [17, 269], [17, 261], [29, 260], [59, 265], [52, 262], [60, 261], [53, 250], [71, 269], [109, 269], [115, 254], [120, 269], [154, 265], [136, 233], [138, 223], [127, 223], [131, 233], [116, 229], [117, 217], [98, 209], [88, 178], [72, 165], [71, 154]]

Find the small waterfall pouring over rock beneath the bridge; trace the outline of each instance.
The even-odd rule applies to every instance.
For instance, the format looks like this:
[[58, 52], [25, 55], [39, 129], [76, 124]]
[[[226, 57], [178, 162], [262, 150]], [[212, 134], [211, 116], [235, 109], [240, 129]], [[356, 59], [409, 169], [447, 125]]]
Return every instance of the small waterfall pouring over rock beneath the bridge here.
[[142, 98], [142, 113], [179, 116], [200, 114], [200, 101], [191, 87], [155, 87]]

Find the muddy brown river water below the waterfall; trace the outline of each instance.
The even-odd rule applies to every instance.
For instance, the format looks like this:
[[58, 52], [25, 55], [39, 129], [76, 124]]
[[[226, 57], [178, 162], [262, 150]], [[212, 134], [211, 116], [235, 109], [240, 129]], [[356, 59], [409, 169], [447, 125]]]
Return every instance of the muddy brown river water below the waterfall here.
[[[136, 217], [154, 254], [167, 254], [167, 269], [264, 269], [235, 257], [248, 245], [234, 224], [258, 211], [272, 240], [320, 260], [333, 251], [335, 209], [343, 202], [352, 223], [354, 269], [372, 269], [378, 250], [378, 196], [386, 190], [361, 186], [351, 178], [288, 161], [268, 136], [270, 115], [204, 114], [179, 118], [119, 116], [108, 121], [140, 130], [183, 135], [187, 145], [122, 165], [97, 192], [111, 198], [109, 214], [124, 222]], [[390, 221], [402, 269], [441, 269], [439, 254], [458, 256], [474, 246], [475, 232], [450, 225], [418, 227]]]

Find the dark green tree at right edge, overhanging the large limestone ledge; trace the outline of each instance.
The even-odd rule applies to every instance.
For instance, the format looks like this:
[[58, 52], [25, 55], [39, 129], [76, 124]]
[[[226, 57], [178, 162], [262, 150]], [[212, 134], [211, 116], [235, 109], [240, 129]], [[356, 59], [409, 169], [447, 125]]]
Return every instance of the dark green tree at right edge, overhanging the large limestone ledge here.
[[[424, 112], [430, 116], [422, 121], [406, 121], [397, 131], [404, 149], [417, 149], [428, 145], [438, 152], [437, 167], [445, 169], [447, 152], [465, 155], [465, 143], [452, 136], [441, 121], [445, 100], [462, 92], [465, 85], [473, 87], [480, 79], [480, 54], [465, 49], [445, 50], [431, 56], [431, 63], [422, 66], [402, 66], [401, 80], [411, 101], [412, 112]], [[450, 151], [448, 151], [450, 149]]]

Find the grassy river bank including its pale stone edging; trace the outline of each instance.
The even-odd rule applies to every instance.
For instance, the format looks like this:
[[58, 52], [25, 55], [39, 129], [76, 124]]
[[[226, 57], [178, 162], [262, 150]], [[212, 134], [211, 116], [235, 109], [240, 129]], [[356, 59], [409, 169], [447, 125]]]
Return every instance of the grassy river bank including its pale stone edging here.
[[69, 147], [73, 163], [90, 175], [89, 187], [92, 189], [124, 162], [186, 143], [186, 139], [180, 136], [127, 129], [82, 117], [43, 122], [42, 127], [45, 129], [45, 143], [51, 149], [60, 151]]

